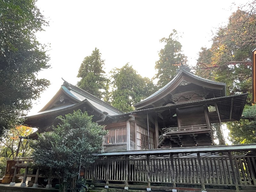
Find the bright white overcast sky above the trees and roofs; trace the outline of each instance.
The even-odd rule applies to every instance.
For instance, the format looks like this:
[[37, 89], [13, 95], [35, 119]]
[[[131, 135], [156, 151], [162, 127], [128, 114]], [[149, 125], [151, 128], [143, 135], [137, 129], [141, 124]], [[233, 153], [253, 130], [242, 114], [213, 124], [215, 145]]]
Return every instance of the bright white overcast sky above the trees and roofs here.
[[[236, 5], [232, 5], [235, 2]], [[105, 60], [105, 71], [127, 62], [138, 73], [152, 78], [159, 39], [172, 29], [182, 36], [183, 53], [194, 66], [202, 46], [211, 46], [212, 31], [225, 25], [236, 6], [247, 0], [38, 0], [36, 5], [50, 26], [37, 34], [41, 43], [51, 44], [51, 68], [40, 78], [51, 81], [28, 115], [35, 114], [52, 98], [63, 83], [78, 81], [77, 72], [85, 56], [97, 47]], [[233, 9], [231, 9], [231, 6]]]

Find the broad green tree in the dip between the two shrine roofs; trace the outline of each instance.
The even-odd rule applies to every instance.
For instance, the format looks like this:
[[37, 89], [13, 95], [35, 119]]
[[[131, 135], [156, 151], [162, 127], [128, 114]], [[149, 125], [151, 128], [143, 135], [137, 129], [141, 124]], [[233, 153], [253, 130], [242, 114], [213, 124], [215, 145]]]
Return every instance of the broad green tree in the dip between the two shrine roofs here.
[[122, 68], [114, 68], [111, 74], [113, 91], [110, 102], [123, 112], [133, 111], [133, 104], [156, 92], [153, 82], [147, 77], [142, 78], [129, 63]]

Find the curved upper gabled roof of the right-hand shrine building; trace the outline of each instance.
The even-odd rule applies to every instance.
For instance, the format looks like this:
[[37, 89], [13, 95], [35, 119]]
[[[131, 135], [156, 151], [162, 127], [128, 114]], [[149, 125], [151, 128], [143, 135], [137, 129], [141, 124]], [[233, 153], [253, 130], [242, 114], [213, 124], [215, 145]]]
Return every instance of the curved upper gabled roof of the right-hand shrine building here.
[[184, 69], [181, 69], [177, 76], [172, 81], [166, 84], [163, 88], [150, 95], [148, 98], [134, 104], [134, 107], [138, 109], [160, 107], [154, 106], [154, 103], [159, 100], [164, 100], [164, 97], [173, 92], [183, 81], [202, 86], [209, 89], [214, 97], [226, 96], [226, 84], [204, 79], [202, 77], [193, 75]]

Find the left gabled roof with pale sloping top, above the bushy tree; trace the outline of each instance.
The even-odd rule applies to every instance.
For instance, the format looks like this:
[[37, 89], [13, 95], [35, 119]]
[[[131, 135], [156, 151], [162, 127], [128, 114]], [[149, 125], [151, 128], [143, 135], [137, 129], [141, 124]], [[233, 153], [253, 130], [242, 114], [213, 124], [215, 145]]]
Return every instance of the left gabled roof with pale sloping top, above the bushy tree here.
[[[67, 102], [59, 102], [61, 97]], [[56, 117], [78, 109], [87, 111], [88, 115], [93, 115], [93, 121], [100, 122], [112, 119], [111, 116], [123, 114], [122, 111], [64, 80], [59, 91], [37, 114], [25, 117], [25, 124], [43, 128], [52, 124]]]

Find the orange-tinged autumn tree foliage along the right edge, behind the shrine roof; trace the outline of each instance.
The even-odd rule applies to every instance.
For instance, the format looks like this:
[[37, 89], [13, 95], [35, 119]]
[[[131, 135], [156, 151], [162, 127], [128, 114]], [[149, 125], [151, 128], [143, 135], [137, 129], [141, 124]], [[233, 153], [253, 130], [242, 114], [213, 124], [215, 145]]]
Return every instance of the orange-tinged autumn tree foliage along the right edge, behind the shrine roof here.
[[[227, 95], [248, 92], [246, 113], [253, 110], [251, 50], [256, 47], [256, 0], [232, 13], [227, 26], [220, 27], [210, 49], [202, 48], [196, 64], [196, 75], [227, 84]], [[247, 109], [248, 108], [248, 109]], [[249, 120], [242, 118], [227, 123], [230, 140], [255, 142], [255, 131]]]

